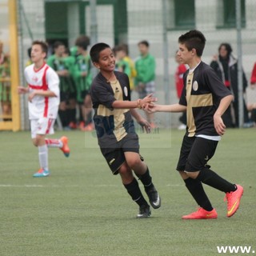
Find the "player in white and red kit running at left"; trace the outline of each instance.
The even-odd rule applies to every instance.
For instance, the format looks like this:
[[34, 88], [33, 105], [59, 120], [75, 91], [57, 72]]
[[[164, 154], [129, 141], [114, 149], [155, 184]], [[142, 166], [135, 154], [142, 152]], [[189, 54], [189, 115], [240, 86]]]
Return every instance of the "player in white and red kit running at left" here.
[[34, 177], [46, 177], [48, 168], [48, 148], [58, 147], [66, 157], [70, 154], [68, 138], [46, 138], [46, 134], [54, 134], [54, 122], [58, 114], [59, 78], [58, 74], [46, 64], [47, 45], [45, 42], [32, 43], [32, 65], [25, 69], [27, 87], [18, 86], [19, 94], [28, 93], [31, 137], [34, 146], [38, 146], [40, 170]]

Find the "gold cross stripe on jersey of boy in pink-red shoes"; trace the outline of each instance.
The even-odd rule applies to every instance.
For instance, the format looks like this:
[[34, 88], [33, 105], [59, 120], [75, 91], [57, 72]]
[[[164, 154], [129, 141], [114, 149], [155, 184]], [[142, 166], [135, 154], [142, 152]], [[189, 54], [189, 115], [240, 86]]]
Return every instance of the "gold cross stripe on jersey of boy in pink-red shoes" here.
[[213, 97], [212, 94], [200, 94], [200, 95], [191, 95], [192, 84], [193, 84], [194, 73], [188, 74], [186, 78], [186, 102], [187, 102], [187, 126], [188, 126], [188, 136], [194, 137], [195, 135], [195, 122], [193, 115], [194, 107], [202, 106], [213, 106]]

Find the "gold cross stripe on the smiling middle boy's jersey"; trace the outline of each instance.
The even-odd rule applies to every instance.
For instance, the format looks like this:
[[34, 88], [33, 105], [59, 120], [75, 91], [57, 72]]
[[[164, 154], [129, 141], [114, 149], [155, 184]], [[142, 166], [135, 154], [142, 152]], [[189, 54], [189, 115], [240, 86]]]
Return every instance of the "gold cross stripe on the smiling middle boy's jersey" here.
[[[114, 91], [114, 98], [116, 100], [122, 101], [122, 87], [120, 86], [118, 80], [116, 82], [110, 82], [110, 86]], [[98, 115], [102, 115], [104, 117], [110, 117], [111, 115], [114, 115], [114, 135], [118, 142], [127, 135], [123, 124], [125, 122], [125, 113], [128, 111], [129, 109], [109, 110], [108, 108], [106, 108], [106, 106], [103, 106], [102, 104], [98, 106]]]

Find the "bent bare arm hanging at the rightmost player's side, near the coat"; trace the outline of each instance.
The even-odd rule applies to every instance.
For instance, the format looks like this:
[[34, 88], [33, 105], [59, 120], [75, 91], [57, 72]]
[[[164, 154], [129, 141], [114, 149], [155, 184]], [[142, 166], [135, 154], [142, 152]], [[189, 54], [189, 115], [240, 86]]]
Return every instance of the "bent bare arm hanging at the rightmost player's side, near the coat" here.
[[233, 101], [233, 99], [233, 95], [227, 95], [226, 97], [222, 98], [218, 109], [214, 114], [214, 127], [219, 135], [223, 135], [225, 133], [226, 126], [222, 120], [222, 114], [224, 114], [226, 109], [230, 106], [230, 103]]

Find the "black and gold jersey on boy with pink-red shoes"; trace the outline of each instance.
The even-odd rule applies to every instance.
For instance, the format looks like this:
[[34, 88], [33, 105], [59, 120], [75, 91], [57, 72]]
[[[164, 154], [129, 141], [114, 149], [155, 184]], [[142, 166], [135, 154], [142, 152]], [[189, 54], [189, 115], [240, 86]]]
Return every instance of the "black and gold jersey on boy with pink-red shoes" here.
[[214, 128], [214, 113], [222, 98], [230, 95], [214, 70], [201, 62], [193, 73], [187, 70], [183, 76], [184, 88], [179, 104], [186, 106], [188, 137], [218, 136]]

